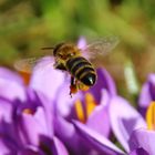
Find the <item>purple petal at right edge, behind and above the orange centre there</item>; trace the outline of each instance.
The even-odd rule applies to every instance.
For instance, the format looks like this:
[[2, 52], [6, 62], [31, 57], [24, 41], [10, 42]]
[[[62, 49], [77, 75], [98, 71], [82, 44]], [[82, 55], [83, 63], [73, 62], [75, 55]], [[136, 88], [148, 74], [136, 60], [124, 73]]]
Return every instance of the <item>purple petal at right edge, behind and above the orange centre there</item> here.
[[141, 113], [145, 116], [146, 108], [151, 104], [151, 102], [155, 101], [155, 74], [149, 74], [147, 81], [143, 84], [138, 105]]

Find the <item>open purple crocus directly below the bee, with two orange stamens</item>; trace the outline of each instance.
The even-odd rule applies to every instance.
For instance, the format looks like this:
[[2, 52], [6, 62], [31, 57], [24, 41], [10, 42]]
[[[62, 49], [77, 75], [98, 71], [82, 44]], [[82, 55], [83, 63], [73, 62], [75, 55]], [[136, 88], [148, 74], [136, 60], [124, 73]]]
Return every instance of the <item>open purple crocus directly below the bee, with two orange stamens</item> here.
[[[85, 43], [83, 38], [79, 41], [81, 48], [85, 46]], [[50, 65], [40, 68], [49, 64], [49, 62], [51, 62]], [[83, 121], [90, 128], [107, 137], [111, 132], [107, 106], [111, 96], [116, 95], [115, 83], [106, 70], [97, 69], [96, 84], [89, 91], [80, 91], [71, 97], [69, 95], [70, 76], [64, 72], [54, 70], [53, 63], [52, 58], [44, 58], [35, 66], [30, 86], [54, 101], [56, 135], [74, 153], [87, 153], [90, 146], [81, 143], [71, 121], [73, 118]], [[78, 145], [81, 149], [78, 148]]]

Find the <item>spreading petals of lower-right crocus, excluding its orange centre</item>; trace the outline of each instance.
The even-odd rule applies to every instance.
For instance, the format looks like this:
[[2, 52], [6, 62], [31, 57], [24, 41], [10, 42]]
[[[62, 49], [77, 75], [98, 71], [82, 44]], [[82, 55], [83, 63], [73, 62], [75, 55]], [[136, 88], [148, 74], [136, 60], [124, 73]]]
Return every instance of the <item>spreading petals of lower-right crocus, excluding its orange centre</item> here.
[[81, 137], [102, 154], [110, 155], [148, 155], [155, 154], [155, 132], [146, 130], [146, 123], [142, 115], [132, 107], [128, 102], [120, 96], [114, 96], [110, 103], [110, 118], [112, 131], [124, 151], [114, 145], [102, 134], [89, 128], [86, 125], [74, 121], [74, 125]]

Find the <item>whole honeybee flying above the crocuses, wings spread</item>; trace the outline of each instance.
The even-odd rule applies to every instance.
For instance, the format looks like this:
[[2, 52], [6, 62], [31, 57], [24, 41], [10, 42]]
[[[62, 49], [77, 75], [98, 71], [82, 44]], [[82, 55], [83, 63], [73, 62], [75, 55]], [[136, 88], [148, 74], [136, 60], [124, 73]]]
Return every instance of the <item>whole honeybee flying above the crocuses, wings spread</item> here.
[[[96, 56], [104, 56], [111, 52], [117, 44], [116, 37], [95, 40], [83, 49], [79, 49], [73, 43], [59, 43], [54, 48], [42, 48], [42, 50], [52, 50], [54, 58], [54, 68], [66, 71], [71, 74], [70, 95], [79, 90], [87, 90], [93, 86], [97, 80], [96, 71], [91, 63]], [[87, 59], [83, 55], [87, 54]], [[32, 62], [32, 61], [33, 62]], [[19, 61], [16, 65], [18, 70], [27, 65], [27, 63], [35, 63], [34, 59]]]

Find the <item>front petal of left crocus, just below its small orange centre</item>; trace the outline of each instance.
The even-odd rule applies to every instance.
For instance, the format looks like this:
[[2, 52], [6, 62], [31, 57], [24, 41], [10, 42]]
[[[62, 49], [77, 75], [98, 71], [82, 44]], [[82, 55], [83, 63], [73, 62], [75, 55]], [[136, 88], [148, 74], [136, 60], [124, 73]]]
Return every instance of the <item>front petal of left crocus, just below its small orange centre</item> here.
[[20, 136], [23, 143], [39, 145], [40, 135], [48, 135], [44, 116], [44, 112], [41, 107], [38, 107], [33, 115], [25, 113], [21, 114], [18, 123]]

